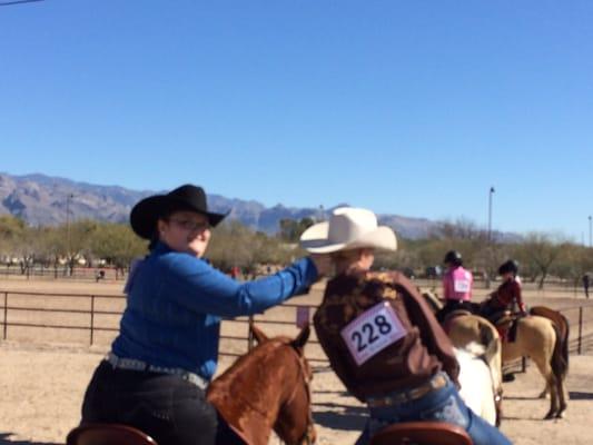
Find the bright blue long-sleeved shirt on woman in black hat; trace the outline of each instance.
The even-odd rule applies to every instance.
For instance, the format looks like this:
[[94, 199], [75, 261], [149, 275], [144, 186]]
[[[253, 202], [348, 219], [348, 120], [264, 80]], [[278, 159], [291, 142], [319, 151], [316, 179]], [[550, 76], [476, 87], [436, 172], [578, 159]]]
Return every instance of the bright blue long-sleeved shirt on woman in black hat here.
[[314, 263], [304, 258], [269, 277], [239, 283], [159, 243], [130, 276], [112, 350], [209, 380], [216, 372], [221, 317], [261, 313], [316, 279]]

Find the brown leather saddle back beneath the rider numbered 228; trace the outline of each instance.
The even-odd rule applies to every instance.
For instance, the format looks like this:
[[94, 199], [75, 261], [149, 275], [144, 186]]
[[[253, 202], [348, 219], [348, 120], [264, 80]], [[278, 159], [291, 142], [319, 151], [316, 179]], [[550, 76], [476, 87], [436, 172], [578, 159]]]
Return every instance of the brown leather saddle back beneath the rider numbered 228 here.
[[446, 422], [406, 422], [386, 426], [370, 445], [472, 445], [467, 432]]

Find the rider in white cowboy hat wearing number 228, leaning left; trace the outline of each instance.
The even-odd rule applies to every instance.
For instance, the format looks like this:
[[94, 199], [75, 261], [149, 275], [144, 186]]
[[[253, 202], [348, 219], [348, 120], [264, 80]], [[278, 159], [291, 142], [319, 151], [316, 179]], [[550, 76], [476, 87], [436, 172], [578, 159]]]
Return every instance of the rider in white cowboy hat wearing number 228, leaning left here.
[[368, 406], [357, 445], [389, 424], [415, 421], [459, 425], [475, 445], [510, 444], [459, 398], [451, 340], [412, 283], [396, 271], [369, 270], [375, 249], [396, 249], [391, 228], [377, 226], [369, 210], [337, 208], [300, 243], [334, 263], [314, 323], [332, 368]]

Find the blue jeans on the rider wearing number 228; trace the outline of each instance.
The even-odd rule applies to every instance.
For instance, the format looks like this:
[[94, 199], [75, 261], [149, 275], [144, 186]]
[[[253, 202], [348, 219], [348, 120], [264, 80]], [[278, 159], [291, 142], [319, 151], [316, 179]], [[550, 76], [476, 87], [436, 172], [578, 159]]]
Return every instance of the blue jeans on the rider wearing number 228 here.
[[448, 422], [463, 427], [474, 445], [511, 445], [512, 442], [465, 406], [457, 388], [448, 378], [443, 388], [432, 390], [416, 400], [370, 409], [370, 418], [356, 445], [367, 445], [370, 437], [387, 425], [402, 422]]

